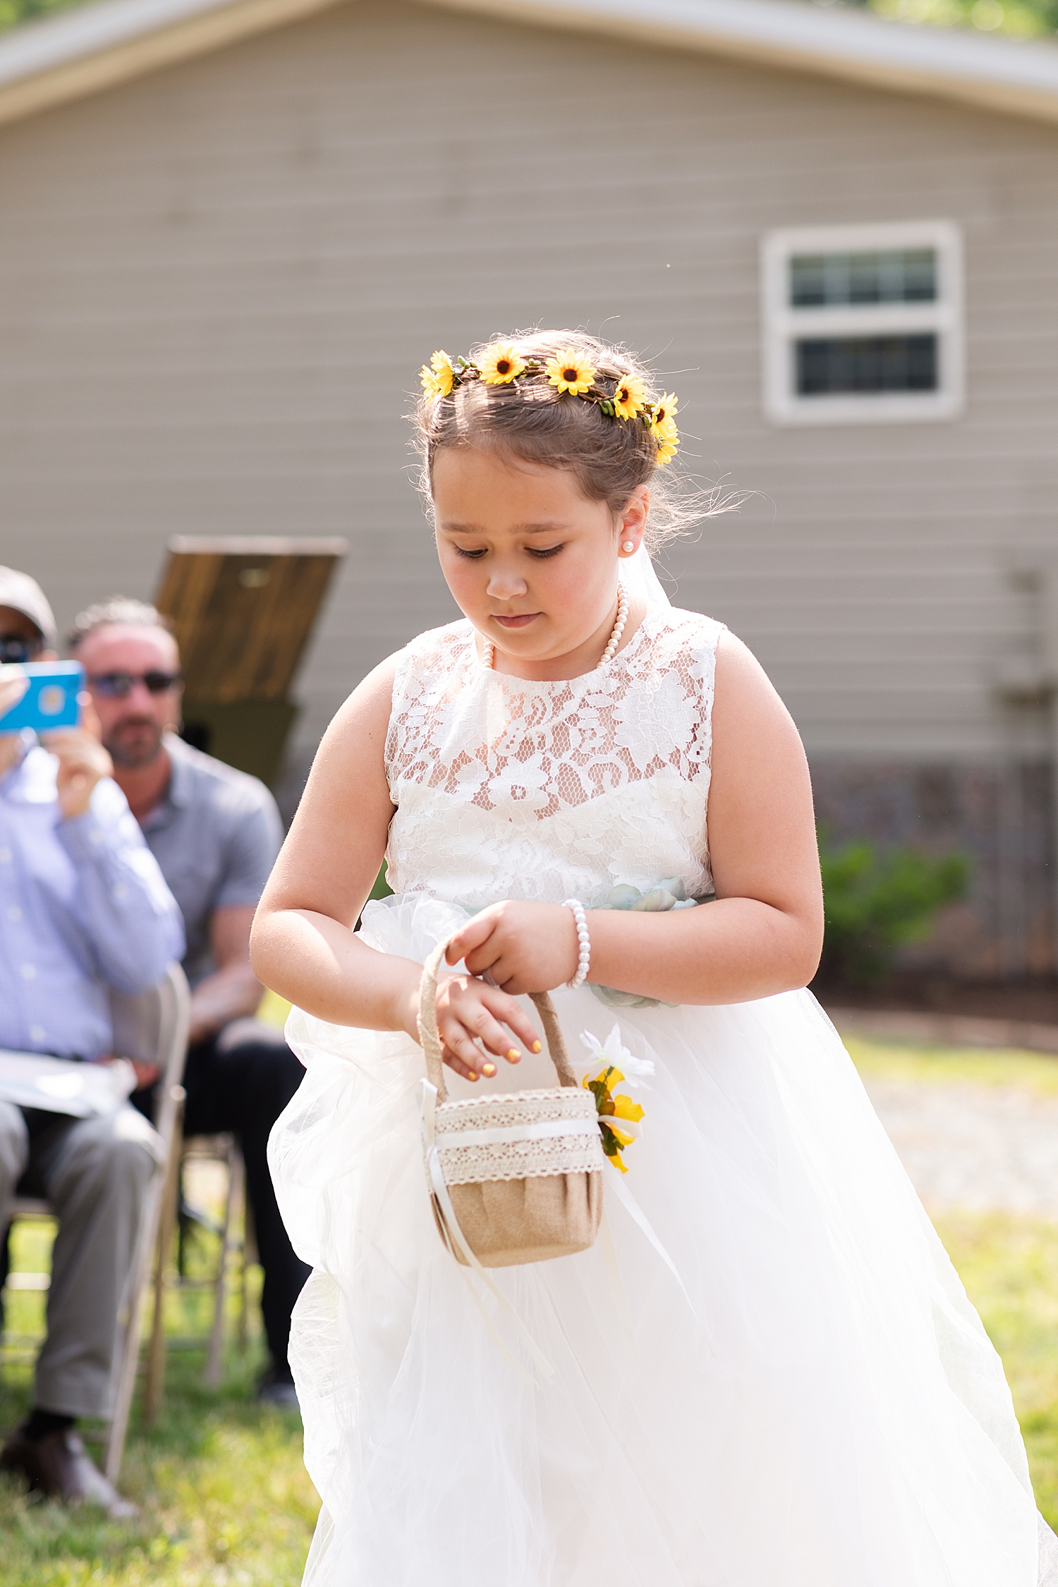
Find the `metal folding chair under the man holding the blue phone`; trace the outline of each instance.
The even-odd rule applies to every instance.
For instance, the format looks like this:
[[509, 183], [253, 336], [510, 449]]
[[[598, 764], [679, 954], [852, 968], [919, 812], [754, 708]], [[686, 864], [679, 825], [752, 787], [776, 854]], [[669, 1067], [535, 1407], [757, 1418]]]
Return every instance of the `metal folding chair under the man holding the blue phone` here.
[[[128, 1306], [125, 1316], [119, 1319], [122, 1324], [122, 1343], [117, 1368], [117, 1398], [106, 1433], [105, 1452], [106, 1476], [111, 1482], [116, 1482], [125, 1451], [128, 1412], [136, 1385], [146, 1278], [151, 1254], [159, 1241], [159, 1230], [163, 1227], [162, 1201], [173, 1174], [173, 1160], [179, 1159], [179, 1120], [184, 1103], [181, 1081], [184, 1078], [187, 1028], [190, 1024], [190, 992], [184, 971], [179, 965], [170, 965], [162, 981], [140, 997], [125, 997], [121, 992], [111, 992], [111, 1014], [114, 1020], [114, 1052], [124, 1059], [138, 1059], [141, 1063], [157, 1063], [162, 1070], [155, 1090], [154, 1127], [162, 1136], [165, 1147], [165, 1171], [155, 1174], [148, 1192], [140, 1241], [132, 1263]], [[11, 1208], [11, 1222], [24, 1217], [52, 1216], [52, 1208], [48, 1201], [30, 1197], [16, 1197]]]

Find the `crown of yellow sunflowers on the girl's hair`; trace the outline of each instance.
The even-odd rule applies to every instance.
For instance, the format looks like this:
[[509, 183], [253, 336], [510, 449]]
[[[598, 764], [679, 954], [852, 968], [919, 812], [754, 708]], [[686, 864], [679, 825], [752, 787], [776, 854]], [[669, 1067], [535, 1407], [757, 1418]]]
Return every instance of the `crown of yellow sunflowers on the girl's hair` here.
[[470, 386], [474, 381], [484, 386], [511, 386], [527, 375], [546, 375], [547, 384], [555, 390], [595, 403], [608, 419], [642, 424], [657, 444], [658, 467], [676, 457], [679, 448], [676, 395], [665, 392], [661, 397], [649, 397], [646, 381], [638, 375], [603, 376], [606, 386], [612, 386], [612, 390], [604, 389], [596, 381], [598, 371], [577, 348], [565, 348], [544, 363], [539, 359], [522, 359], [512, 341], [493, 341], [477, 359], [452, 360], [447, 352], [438, 351], [419, 370], [427, 400], [449, 397], [458, 386]]

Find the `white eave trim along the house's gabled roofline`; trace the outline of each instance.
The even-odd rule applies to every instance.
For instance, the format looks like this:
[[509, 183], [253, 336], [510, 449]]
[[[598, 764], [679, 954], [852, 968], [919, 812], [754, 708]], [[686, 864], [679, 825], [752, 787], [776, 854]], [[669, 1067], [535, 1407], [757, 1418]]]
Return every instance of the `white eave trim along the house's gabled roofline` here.
[[[95, 0], [0, 40], [0, 122], [349, 0]], [[1058, 121], [1058, 46], [792, 0], [425, 0]]]

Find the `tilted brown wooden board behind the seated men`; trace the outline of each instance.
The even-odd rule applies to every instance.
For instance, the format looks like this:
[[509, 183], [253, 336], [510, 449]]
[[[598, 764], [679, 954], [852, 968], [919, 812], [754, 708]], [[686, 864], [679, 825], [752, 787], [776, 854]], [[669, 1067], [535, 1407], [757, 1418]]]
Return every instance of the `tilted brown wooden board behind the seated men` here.
[[178, 536], [168, 552], [155, 605], [176, 627], [184, 698], [286, 698], [346, 541]]

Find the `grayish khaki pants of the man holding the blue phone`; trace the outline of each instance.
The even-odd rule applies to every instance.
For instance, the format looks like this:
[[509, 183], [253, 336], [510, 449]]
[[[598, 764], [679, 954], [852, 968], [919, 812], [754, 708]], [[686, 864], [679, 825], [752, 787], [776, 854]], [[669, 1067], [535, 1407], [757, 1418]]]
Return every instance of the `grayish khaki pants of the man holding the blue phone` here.
[[22, 1176], [22, 1192], [48, 1197], [59, 1219], [48, 1338], [36, 1358], [35, 1404], [43, 1411], [113, 1414], [119, 1319], [130, 1300], [148, 1190], [162, 1162], [162, 1143], [135, 1108], [106, 1119], [57, 1114], [30, 1141], [22, 1111], [0, 1101], [0, 1236]]

